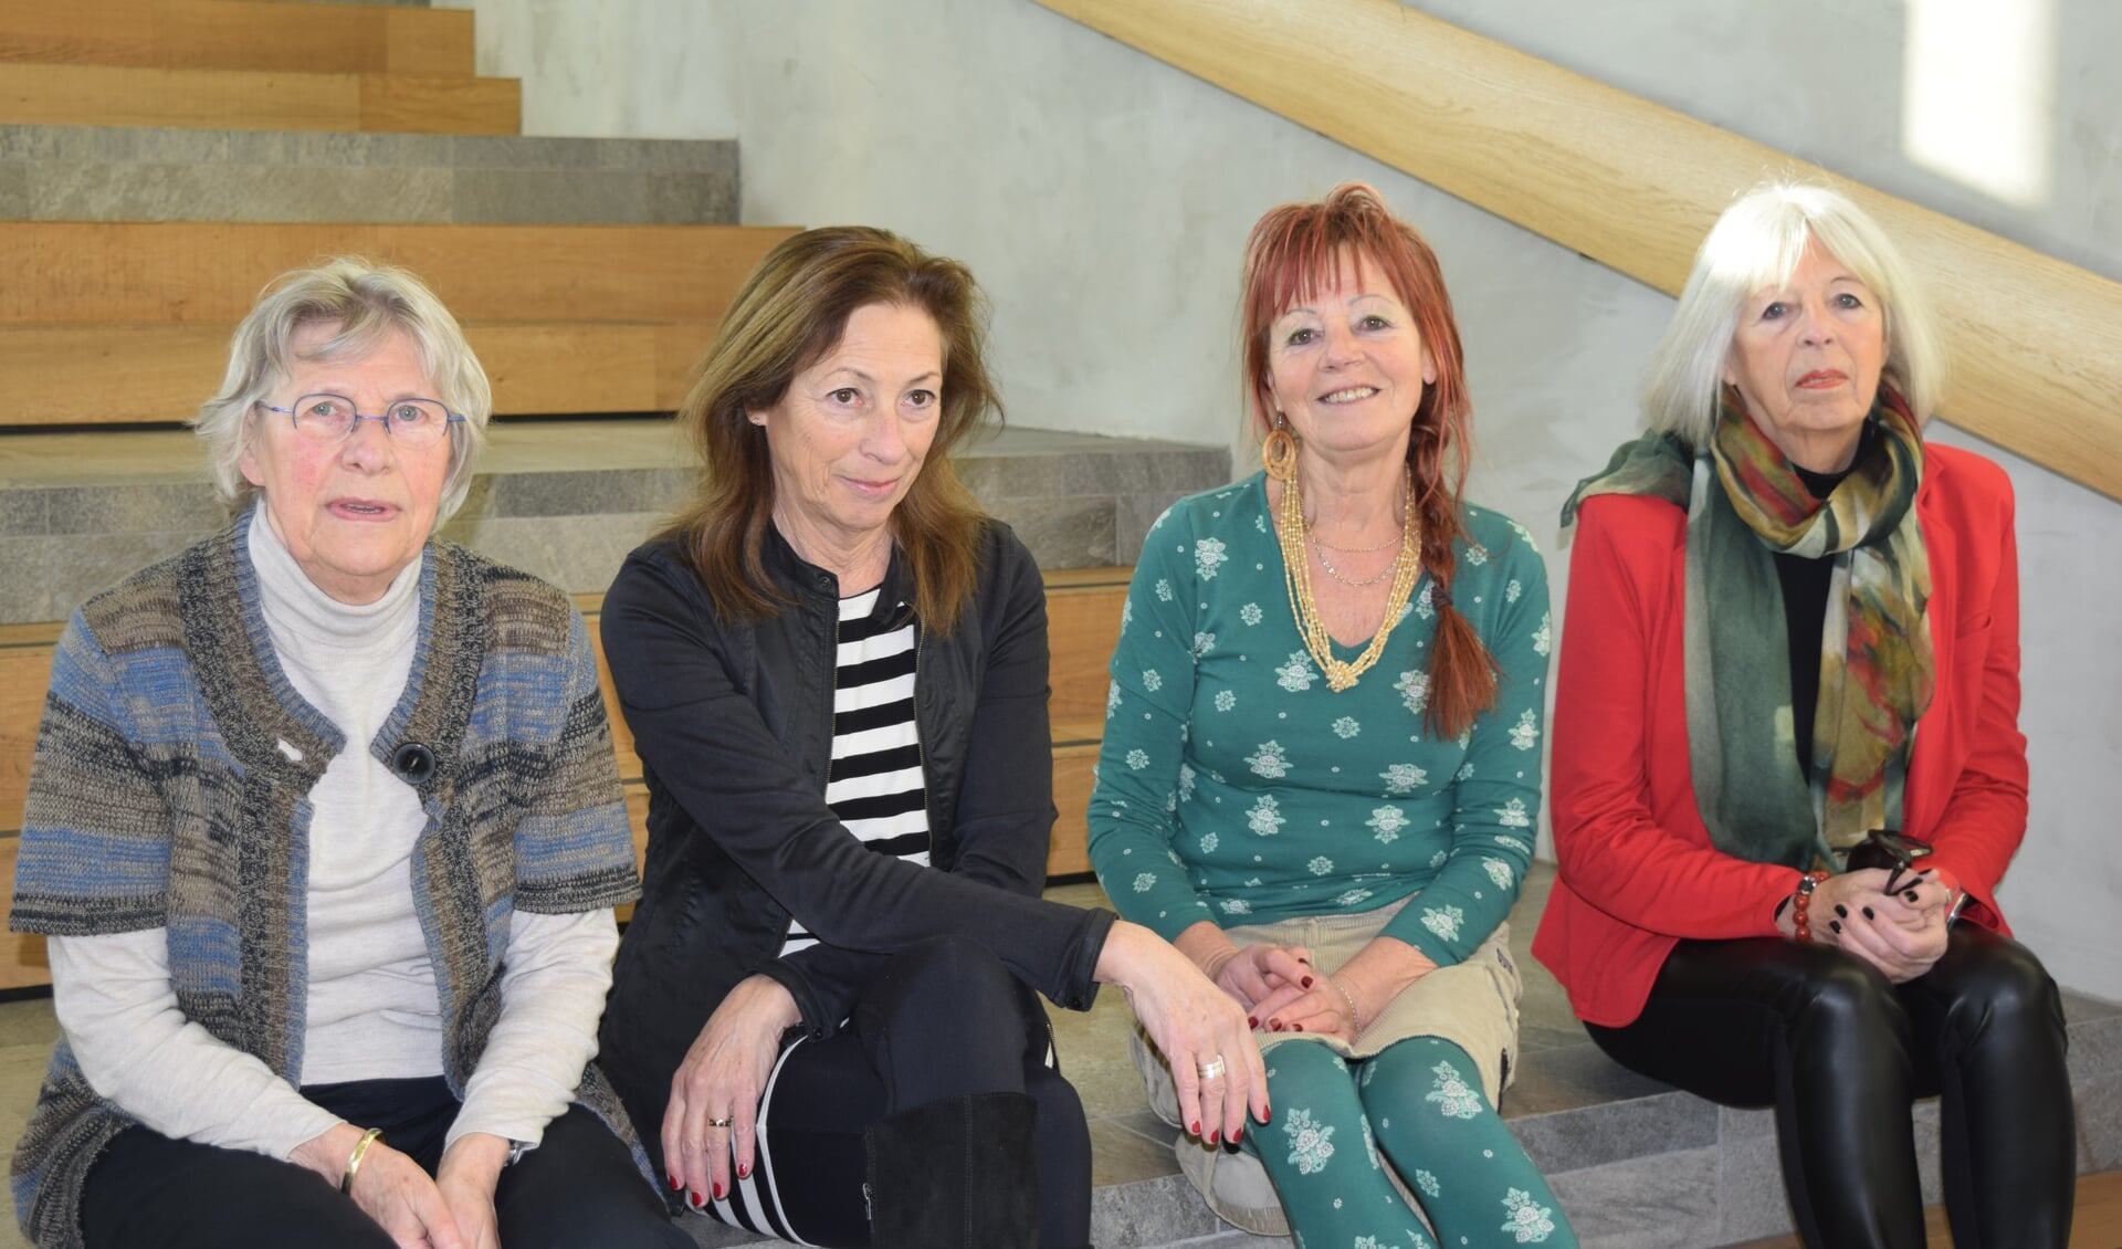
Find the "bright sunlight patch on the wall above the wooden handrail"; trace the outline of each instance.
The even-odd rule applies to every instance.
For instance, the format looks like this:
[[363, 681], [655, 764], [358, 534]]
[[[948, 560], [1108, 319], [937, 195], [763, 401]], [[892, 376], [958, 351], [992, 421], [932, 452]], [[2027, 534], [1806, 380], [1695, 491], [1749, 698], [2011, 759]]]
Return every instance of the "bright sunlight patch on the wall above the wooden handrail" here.
[[2054, 178], [2054, 0], [1906, 0], [1901, 151], [2018, 208]]

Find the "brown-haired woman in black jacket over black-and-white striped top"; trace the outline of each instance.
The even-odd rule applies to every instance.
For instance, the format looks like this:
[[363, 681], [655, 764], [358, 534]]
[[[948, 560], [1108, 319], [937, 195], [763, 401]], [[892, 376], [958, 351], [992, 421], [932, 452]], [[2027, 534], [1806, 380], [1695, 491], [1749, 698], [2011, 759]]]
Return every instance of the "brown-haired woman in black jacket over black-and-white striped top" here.
[[999, 416], [963, 265], [815, 229], [745, 280], [679, 414], [700, 496], [605, 653], [649, 787], [601, 1058], [673, 1192], [811, 1245], [1086, 1245], [1091, 1143], [1033, 990], [1127, 988], [1182, 1092], [1267, 1113], [1243, 1011], [1038, 897], [1046, 600], [951, 450]]

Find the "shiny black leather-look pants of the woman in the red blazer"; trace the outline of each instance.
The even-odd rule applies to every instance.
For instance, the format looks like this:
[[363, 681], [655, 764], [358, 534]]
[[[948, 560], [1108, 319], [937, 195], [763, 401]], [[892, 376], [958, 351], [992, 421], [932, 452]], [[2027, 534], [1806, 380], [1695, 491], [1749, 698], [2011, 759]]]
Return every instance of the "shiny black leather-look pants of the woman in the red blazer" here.
[[1774, 1103], [1806, 1245], [1923, 1249], [1908, 1107], [1931, 1094], [1952, 1243], [2069, 1238], [2077, 1134], [2063, 1003], [2018, 942], [1956, 927], [1908, 984], [1831, 946], [1681, 942], [1636, 1022], [1587, 1031], [1653, 1079], [1723, 1105]]

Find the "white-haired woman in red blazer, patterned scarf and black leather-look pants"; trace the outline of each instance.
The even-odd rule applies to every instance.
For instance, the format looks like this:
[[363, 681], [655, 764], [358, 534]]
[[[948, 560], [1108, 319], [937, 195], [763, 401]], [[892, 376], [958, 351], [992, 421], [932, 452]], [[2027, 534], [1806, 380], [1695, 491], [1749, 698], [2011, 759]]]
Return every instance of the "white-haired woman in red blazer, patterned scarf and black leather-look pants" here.
[[1651, 433], [1579, 483], [1534, 954], [1592, 1039], [1774, 1105], [1806, 1245], [2063, 1245], [2063, 1009], [1997, 882], [2027, 831], [2012, 486], [1923, 441], [1942, 352], [1893, 244], [1816, 187], [1710, 231]]

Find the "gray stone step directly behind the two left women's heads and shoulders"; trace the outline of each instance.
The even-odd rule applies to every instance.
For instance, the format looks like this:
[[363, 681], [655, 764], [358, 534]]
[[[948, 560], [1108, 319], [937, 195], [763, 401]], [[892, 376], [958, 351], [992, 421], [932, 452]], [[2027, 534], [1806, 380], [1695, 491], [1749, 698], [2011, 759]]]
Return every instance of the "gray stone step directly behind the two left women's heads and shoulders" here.
[[[95, 590], [225, 522], [185, 430], [0, 435], [0, 623], [66, 619]], [[1222, 447], [1008, 428], [959, 454], [978, 498], [1046, 568], [1133, 564], [1148, 524], [1229, 479]], [[673, 424], [497, 422], [456, 541], [598, 592], [694, 486]]]

